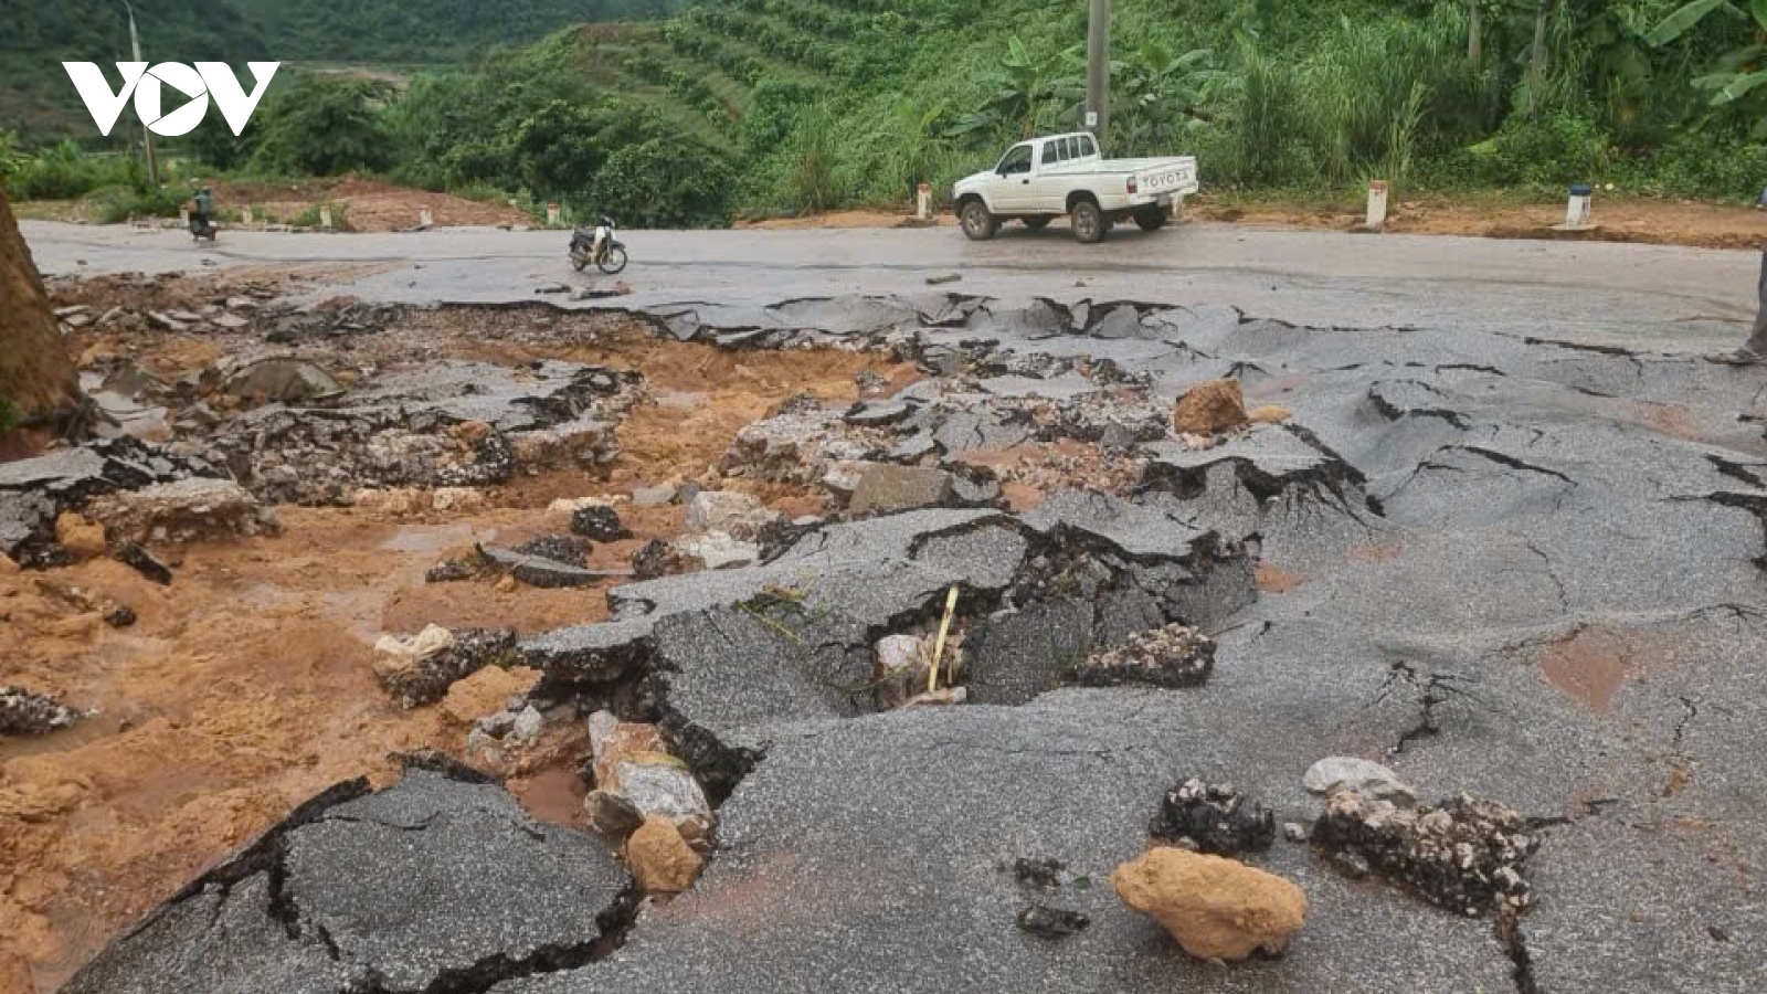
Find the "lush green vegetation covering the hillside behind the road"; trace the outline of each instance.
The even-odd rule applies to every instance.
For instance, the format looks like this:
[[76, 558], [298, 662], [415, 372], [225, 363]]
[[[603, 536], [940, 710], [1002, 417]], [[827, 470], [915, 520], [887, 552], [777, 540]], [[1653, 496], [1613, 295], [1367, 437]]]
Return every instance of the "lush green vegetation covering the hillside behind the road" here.
[[[270, 0], [230, 2], [270, 18]], [[532, 0], [521, 9], [537, 19], [519, 23], [565, 5]], [[283, 7], [284, 23], [364, 27], [362, 48], [323, 55], [417, 55], [371, 44], [396, 30], [378, 0], [357, 4], [360, 18], [341, 0]], [[472, 28], [456, 7], [415, 9]], [[244, 136], [205, 126], [184, 152], [254, 175], [353, 170], [560, 200], [631, 225], [901, 203], [1023, 134], [1078, 126], [1085, 7], [701, 0], [668, 21], [583, 25], [424, 71], [403, 90], [288, 71]], [[1767, 184], [1767, 0], [1145, 0], [1119, 4], [1113, 35], [1106, 150], [1193, 152], [1216, 189], [1343, 196], [1378, 177], [1407, 196], [1557, 198], [1590, 180], [1753, 200]], [[11, 189], [88, 182], [65, 150], [34, 163], [46, 159]]]

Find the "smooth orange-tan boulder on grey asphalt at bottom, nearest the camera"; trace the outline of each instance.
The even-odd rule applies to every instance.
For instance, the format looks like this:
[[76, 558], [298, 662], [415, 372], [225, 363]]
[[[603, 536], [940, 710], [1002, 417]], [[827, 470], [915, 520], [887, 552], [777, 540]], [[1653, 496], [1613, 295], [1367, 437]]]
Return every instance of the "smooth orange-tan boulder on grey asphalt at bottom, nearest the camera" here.
[[1184, 849], [1152, 849], [1111, 870], [1110, 883], [1124, 904], [1205, 960], [1281, 953], [1308, 914], [1308, 897], [1293, 883]]

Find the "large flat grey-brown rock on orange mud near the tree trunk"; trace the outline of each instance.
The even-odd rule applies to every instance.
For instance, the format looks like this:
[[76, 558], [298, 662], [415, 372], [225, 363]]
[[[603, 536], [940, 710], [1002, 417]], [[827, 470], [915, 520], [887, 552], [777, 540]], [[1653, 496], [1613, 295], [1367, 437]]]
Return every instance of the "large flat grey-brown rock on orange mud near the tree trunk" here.
[[191, 478], [92, 501], [87, 515], [118, 541], [173, 543], [279, 534], [276, 513], [231, 479]]

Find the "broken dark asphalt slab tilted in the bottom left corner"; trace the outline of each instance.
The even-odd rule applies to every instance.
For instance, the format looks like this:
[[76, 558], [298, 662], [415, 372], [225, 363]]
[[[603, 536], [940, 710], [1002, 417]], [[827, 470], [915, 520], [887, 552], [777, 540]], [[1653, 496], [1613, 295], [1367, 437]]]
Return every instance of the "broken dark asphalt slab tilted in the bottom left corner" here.
[[588, 962], [633, 900], [597, 838], [461, 769], [413, 768], [307, 801], [62, 990], [484, 990]]

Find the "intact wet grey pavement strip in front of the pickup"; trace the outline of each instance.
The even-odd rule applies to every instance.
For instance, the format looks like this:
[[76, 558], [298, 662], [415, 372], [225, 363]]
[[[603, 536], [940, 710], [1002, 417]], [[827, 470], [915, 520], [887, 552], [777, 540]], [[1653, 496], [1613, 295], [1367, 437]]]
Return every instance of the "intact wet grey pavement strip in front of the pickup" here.
[[[564, 258], [558, 232], [458, 228], [385, 235], [230, 232], [214, 248], [182, 232], [23, 225], [49, 274], [262, 264], [368, 264], [327, 295], [463, 302], [534, 299], [542, 283], [611, 285]], [[1184, 225], [1119, 230], [1103, 246], [1009, 228], [986, 244], [954, 228], [631, 232], [622, 306], [776, 302], [940, 287], [1021, 301], [1048, 295], [1232, 304], [1309, 325], [1463, 327], [1693, 350], [1737, 343], [1753, 318], [1758, 256], [1665, 246], [1426, 235], [1265, 232]], [[558, 301], [558, 297], [553, 297]]]

